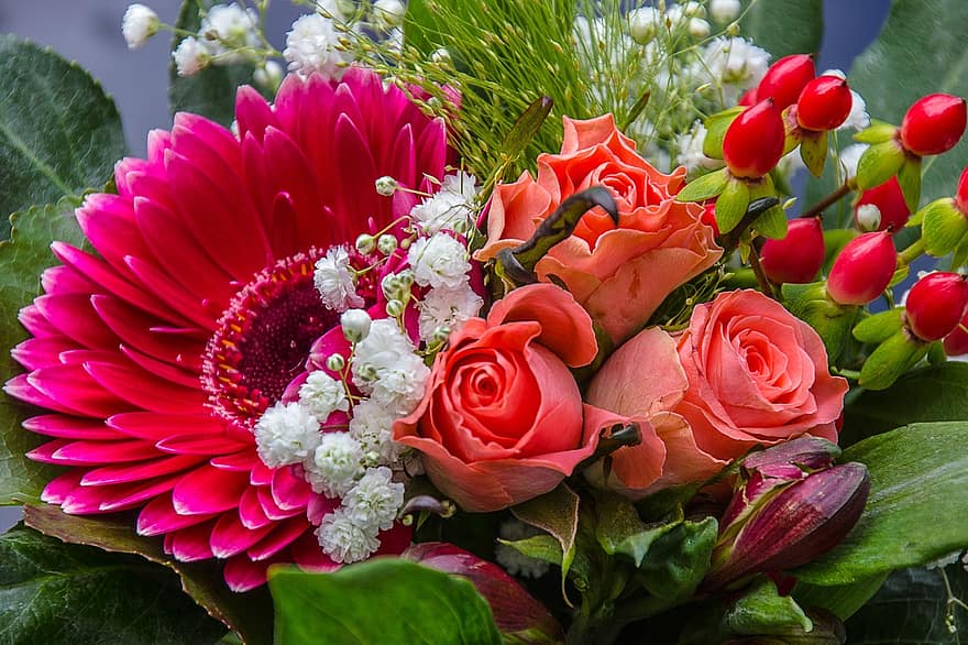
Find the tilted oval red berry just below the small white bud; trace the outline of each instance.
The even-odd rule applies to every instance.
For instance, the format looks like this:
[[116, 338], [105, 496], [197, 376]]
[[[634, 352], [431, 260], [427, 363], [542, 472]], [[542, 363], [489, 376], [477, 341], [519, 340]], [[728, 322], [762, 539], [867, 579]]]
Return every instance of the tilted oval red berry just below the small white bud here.
[[847, 242], [834, 260], [827, 293], [840, 305], [866, 305], [884, 293], [897, 267], [891, 233], [861, 233]]

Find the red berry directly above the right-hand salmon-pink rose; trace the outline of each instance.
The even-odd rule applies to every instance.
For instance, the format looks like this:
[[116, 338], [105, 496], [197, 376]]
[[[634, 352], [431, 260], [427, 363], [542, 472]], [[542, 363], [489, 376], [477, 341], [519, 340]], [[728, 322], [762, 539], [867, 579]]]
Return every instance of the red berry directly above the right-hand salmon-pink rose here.
[[813, 282], [824, 264], [824, 231], [815, 217], [788, 222], [787, 237], [767, 240], [760, 250], [760, 264], [776, 283]]

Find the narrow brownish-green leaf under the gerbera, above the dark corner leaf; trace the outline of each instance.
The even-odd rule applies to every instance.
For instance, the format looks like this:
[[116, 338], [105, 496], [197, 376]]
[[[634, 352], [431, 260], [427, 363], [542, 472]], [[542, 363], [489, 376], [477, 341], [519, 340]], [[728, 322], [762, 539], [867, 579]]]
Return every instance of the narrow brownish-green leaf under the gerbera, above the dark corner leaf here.
[[182, 578], [182, 590], [210, 616], [234, 630], [246, 645], [272, 641], [272, 614], [265, 589], [237, 593], [222, 580], [213, 560], [180, 562], [165, 555], [161, 540], [141, 537], [130, 523], [103, 517], [68, 515], [47, 504], [24, 506], [24, 522], [31, 528], [65, 543], [98, 547], [116, 554], [132, 554], [162, 565]]

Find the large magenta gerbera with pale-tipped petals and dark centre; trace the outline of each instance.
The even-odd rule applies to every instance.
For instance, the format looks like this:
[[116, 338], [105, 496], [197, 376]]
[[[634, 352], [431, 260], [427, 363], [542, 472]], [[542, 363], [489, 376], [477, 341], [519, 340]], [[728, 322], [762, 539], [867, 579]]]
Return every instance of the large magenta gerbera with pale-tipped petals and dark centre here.
[[[252, 428], [305, 374], [339, 325], [312, 285], [330, 247], [385, 229], [414, 197], [382, 197], [384, 175], [428, 189], [443, 176], [442, 122], [378, 76], [289, 76], [270, 106], [237, 99], [239, 135], [195, 114], [118, 163], [117, 195], [77, 220], [97, 253], [62, 242], [45, 294], [21, 311], [33, 338], [13, 396], [50, 414], [24, 423], [54, 440], [30, 453], [69, 469], [43, 499], [77, 514], [140, 509], [138, 532], [180, 560], [223, 558], [237, 590], [275, 561], [331, 568], [314, 535], [339, 501], [297, 467], [260, 461]], [[367, 291], [369, 289], [369, 291]], [[361, 285], [367, 306], [382, 298]], [[399, 527], [383, 551], [408, 542]]]

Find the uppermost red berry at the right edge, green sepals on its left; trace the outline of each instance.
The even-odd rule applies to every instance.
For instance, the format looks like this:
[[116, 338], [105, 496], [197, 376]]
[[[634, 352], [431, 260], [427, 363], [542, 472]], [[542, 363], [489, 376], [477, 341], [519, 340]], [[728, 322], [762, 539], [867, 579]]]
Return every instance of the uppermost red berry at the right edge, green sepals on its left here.
[[908, 108], [901, 121], [901, 145], [920, 156], [941, 154], [955, 147], [966, 122], [965, 99], [949, 94], [927, 95]]

